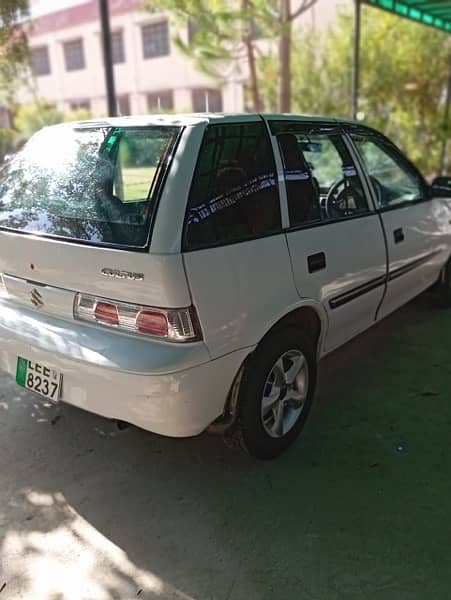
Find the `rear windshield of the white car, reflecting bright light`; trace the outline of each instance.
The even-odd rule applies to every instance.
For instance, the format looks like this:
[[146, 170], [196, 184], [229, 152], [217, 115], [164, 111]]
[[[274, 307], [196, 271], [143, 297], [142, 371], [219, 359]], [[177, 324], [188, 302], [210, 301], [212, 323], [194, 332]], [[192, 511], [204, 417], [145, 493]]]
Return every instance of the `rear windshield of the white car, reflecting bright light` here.
[[59, 126], [0, 170], [0, 228], [143, 248], [179, 127]]

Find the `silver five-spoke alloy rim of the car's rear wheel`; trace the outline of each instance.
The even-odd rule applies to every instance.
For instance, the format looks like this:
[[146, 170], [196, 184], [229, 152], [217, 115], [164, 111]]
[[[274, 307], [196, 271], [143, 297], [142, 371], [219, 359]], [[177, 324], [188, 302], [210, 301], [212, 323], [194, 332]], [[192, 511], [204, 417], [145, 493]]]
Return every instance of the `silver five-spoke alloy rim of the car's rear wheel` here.
[[296, 424], [307, 400], [308, 364], [300, 350], [284, 352], [272, 366], [263, 388], [261, 418], [268, 435], [281, 438]]

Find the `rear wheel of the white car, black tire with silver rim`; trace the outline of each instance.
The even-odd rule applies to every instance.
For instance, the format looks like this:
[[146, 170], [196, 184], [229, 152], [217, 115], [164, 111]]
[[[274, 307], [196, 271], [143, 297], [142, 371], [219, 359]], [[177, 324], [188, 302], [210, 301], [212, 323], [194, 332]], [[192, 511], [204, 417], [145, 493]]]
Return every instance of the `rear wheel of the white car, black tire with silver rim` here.
[[254, 458], [279, 456], [305, 425], [316, 379], [316, 344], [302, 329], [286, 326], [270, 334], [247, 361], [227, 443]]

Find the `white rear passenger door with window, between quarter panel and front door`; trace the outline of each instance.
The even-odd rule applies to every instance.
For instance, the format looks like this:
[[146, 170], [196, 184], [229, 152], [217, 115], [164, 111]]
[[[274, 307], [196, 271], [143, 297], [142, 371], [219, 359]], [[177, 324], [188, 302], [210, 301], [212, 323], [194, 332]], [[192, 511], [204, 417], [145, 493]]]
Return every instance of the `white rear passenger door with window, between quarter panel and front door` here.
[[328, 352], [375, 321], [387, 269], [380, 218], [337, 125], [280, 120], [270, 127], [284, 168], [296, 287], [327, 311]]

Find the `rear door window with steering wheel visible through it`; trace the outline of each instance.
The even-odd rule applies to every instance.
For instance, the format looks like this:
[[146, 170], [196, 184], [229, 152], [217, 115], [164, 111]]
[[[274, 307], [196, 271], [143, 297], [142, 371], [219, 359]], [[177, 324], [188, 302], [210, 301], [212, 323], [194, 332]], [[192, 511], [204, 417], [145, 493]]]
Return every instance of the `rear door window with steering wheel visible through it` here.
[[292, 226], [368, 212], [359, 176], [339, 134], [285, 128], [277, 137]]

